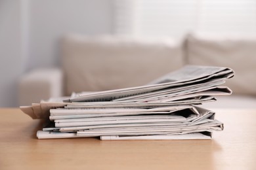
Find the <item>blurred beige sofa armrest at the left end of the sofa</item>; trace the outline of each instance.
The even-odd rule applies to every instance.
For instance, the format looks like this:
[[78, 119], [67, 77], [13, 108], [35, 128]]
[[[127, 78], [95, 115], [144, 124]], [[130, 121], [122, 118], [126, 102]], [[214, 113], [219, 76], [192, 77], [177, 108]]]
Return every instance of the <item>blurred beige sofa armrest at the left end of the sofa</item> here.
[[23, 75], [18, 83], [19, 105], [62, 96], [63, 77], [60, 69], [36, 69]]

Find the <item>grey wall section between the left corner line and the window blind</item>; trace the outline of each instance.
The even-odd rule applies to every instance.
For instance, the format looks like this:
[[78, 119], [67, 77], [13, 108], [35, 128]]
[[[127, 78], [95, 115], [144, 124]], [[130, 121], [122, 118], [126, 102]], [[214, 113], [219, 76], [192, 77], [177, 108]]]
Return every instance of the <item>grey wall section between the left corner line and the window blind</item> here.
[[112, 33], [111, 0], [31, 0], [28, 69], [58, 65], [58, 40], [65, 33]]

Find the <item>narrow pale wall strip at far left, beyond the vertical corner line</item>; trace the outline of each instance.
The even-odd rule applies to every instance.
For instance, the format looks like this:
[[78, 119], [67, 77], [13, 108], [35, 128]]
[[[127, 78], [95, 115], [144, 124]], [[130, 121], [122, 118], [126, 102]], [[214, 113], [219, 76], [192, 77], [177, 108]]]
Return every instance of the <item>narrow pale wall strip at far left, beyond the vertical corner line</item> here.
[[17, 81], [22, 73], [20, 1], [0, 0], [0, 107], [17, 105]]

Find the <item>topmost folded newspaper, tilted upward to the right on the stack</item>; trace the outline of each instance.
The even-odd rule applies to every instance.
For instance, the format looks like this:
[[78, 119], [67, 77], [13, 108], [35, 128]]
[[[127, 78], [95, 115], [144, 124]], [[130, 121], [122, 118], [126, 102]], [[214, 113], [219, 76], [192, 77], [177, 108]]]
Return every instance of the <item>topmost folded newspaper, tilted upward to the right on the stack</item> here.
[[[234, 76], [234, 71], [225, 67], [205, 67], [187, 65], [178, 71], [154, 81], [155, 84], [147, 86], [137, 86], [133, 88], [123, 88], [119, 90], [108, 90], [104, 92], [91, 93], [89, 95], [78, 95], [66, 99], [66, 102], [81, 102], [81, 101], [112, 101], [130, 95], [137, 95], [140, 93], [154, 92], [166, 88], [182, 87], [188, 89], [194, 84], [207, 84], [211, 80], [225, 80]], [[183, 90], [180, 90], [183, 92]]]

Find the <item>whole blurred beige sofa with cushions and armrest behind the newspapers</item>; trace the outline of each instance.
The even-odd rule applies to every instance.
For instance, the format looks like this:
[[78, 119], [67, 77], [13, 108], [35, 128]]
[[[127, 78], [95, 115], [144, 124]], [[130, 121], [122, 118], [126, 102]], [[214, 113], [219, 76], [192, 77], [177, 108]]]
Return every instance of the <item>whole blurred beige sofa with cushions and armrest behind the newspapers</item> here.
[[206, 107], [256, 108], [256, 39], [188, 35], [172, 39], [68, 35], [62, 40], [62, 67], [38, 69], [20, 78], [20, 105], [72, 92], [144, 85], [186, 64], [231, 67], [226, 83], [231, 97], [218, 97]]

